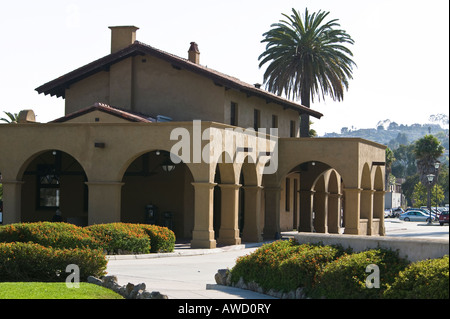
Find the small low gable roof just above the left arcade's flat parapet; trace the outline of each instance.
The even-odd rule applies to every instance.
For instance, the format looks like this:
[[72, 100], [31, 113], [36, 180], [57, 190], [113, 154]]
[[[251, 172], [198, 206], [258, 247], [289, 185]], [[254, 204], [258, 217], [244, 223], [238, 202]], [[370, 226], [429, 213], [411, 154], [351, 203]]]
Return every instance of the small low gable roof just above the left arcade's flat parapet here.
[[89, 107], [86, 107], [79, 111], [70, 113], [66, 116], [63, 116], [56, 120], [50, 121], [49, 123], [64, 123], [64, 122], [70, 121], [74, 118], [77, 118], [79, 116], [82, 116], [84, 114], [91, 113], [93, 111], [100, 111], [100, 112], [108, 113], [110, 115], [119, 117], [121, 119], [130, 121], [130, 122], [144, 122], [144, 123], [156, 122], [156, 120], [154, 118], [147, 116], [145, 114], [133, 113], [130, 111], [121, 110], [119, 108], [112, 107], [112, 106], [109, 106], [109, 105], [103, 104], [103, 103], [95, 103], [92, 106], [89, 106]]

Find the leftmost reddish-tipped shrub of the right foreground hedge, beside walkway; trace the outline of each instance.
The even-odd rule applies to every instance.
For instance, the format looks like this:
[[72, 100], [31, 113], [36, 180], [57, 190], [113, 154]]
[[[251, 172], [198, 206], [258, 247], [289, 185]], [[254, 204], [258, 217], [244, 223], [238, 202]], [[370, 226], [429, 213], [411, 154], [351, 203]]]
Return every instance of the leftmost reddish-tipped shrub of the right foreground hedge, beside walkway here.
[[342, 253], [337, 247], [276, 241], [238, 258], [231, 270], [231, 281], [236, 283], [242, 277], [265, 290], [285, 292], [309, 287], [316, 272]]

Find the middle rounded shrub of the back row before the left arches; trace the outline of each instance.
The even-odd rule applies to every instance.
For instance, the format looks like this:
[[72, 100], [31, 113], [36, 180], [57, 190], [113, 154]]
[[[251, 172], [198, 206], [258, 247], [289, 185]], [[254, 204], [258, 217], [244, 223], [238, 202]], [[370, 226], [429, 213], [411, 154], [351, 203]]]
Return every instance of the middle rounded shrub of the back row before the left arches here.
[[109, 254], [120, 251], [147, 254], [151, 250], [150, 237], [138, 224], [110, 223], [85, 227]]

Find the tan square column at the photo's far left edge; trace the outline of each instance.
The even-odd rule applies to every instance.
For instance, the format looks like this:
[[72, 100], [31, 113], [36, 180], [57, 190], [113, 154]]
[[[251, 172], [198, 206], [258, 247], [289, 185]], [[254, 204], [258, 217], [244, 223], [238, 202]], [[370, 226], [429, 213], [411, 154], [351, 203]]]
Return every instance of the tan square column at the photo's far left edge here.
[[3, 224], [20, 223], [22, 181], [2, 181], [3, 184]]

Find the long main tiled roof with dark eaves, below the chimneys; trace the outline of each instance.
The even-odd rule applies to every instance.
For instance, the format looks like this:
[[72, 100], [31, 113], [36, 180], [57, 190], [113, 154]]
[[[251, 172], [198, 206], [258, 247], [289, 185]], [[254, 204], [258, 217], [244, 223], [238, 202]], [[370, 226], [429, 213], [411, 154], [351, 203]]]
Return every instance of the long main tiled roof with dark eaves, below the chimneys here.
[[59, 78], [47, 82], [36, 88], [36, 91], [38, 93], [44, 93], [45, 95], [50, 94], [51, 96], [56, 95], [57, 97], [64, 98], [65, 90], [71, 84], [78, 82], [97, 72], [108, 71], [109, 67], [112, 64], [120, 62], [126, 58], [145, 54], [154, 56], [156, 58], [160, 58], [172, 64], [172, 66], [175, 68], [185, 69], [194, 72], [196, 74], [205, 76], [211, 79], [216, 85], [223, 86], [228, 89], [238, 90], [240, 92], [247, 94], [248, 97], [256, 96], [265, 99], [267, 103], [270, 102], [276, 103], [283, 106], [284, 108], [292, 109], [299, 113], [306, 113], [315, 118], [320, 118], [323, 115], [320, 112], [311, 110], [310, 108], [307, 108], [303, 105], [289, 101], [288, 99], [285, 99], [273, 93], [257, 88], [254, 85], [245, 83], [235, 77], [231, 77], [229, 75], [217, 72], [213, 69], [209, 69], [202, 65], [190, 62], [187, 59], [183, 59], [176, 55], [158, 50], [139, 41], [135, 41], [133, 44], [122, 50], [119, 50], [115, 53], [111, 53], [107, 56], [104, 56], [103, 58], [100, 58], [76, 70], [73, 70]]

